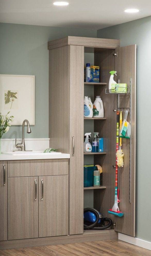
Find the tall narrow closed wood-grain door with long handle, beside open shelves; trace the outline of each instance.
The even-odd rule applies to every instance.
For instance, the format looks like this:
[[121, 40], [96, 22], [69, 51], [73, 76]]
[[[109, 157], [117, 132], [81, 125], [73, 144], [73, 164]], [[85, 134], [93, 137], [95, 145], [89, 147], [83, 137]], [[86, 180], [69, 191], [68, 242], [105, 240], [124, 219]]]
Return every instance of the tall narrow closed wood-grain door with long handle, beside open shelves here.
[[83, 66], [84, 46], [70, 45], [70, 235], [83, 233]]

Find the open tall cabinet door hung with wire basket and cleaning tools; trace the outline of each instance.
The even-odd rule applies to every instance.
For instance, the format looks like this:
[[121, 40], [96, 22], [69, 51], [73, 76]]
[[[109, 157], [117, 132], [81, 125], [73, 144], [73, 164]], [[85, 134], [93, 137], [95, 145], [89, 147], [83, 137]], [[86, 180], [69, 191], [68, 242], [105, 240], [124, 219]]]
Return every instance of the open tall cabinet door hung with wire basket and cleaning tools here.
[[[130, 139], [122, 139], [124, 167], [119, 168], [120, 211], [123, 217], [115, 216], [115, 230], [135, 236], [135, 170], [136, 170], [136, 45], [116, 48], [115, 70], [119, 83], [127, 83], [131, 93], [119, 95], [119, 108], [129, 108], [131, 120]], [[124, 109], [125, 111], [125, 109]]]

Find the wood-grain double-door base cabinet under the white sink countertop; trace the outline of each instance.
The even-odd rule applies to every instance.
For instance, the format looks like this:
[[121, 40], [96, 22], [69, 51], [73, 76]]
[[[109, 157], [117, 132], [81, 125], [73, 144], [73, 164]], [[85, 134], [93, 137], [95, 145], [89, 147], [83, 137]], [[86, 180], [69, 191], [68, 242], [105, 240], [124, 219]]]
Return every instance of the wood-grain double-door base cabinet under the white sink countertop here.
[[69, 160], [8, 161], [8, 170], [8, 240], [68, 235]]

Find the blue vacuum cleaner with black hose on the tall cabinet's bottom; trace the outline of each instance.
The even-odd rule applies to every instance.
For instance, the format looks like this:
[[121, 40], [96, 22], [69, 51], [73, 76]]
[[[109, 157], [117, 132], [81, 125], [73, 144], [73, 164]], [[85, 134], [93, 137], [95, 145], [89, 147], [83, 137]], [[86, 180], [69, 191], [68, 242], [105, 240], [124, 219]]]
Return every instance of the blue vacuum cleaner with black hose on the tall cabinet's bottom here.
[[[84, 209], [84, 229], [104, 230], [110, 228], [112, 220], [103, 218], [100, 212], [94, 208]], [[105, 224], [107, 222], [107, 224]]]

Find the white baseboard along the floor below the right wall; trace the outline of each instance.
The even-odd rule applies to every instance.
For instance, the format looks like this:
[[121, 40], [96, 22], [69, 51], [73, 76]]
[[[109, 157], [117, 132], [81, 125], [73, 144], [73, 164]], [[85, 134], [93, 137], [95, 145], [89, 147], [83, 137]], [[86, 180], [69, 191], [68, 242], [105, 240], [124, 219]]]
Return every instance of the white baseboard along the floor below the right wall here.
[[119, 240], [151, 250], [151, 242], [119, 233]]

